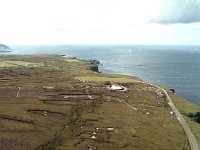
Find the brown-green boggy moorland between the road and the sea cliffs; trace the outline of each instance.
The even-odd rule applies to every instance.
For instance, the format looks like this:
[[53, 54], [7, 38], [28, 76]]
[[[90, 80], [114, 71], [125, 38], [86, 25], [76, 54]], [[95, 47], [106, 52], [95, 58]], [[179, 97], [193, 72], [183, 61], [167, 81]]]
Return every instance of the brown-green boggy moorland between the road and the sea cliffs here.
[[190, 149], [159, 89], [91, 68], [55, 55], [0, 56], [0, 149]]

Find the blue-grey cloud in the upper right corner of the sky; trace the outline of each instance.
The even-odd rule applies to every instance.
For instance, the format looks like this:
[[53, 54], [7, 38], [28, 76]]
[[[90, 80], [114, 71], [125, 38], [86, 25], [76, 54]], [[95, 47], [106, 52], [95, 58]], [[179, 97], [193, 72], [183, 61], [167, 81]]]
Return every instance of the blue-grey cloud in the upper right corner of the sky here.
[[175, 24], [200, 22], [200, 0], [160, 0], [154, 23]]

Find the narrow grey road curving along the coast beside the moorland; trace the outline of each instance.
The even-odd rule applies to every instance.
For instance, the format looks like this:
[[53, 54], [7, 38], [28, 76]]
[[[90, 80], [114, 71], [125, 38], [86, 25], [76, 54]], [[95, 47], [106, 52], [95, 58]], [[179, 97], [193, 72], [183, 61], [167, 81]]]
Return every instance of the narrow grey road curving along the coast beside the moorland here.
[[156, 85], [153, 85], [153, 84], [150, 84], [150, 85], [161, 89], [165, 93], [165, 95], [166, 95], [166, 97], [167, 97], [167, 99], [169, 101], [169, 105], [170, 105], [171, 109], [173, 110], [174, 114], [176, 115], [176, 118], [178, 119], [180, 125], [182, 126], [182, 128], [183, 128], [183, 130], [184, 130], [184, 132], [185, 132], [185, 134], [186, 134], [186, 136], [188, 138], [188, 141], [189, 141], [191, 149], [192, 150], [199, 150], [199, 147], [198, 147], [197, 140], [196, 140], [195, 136], [193, 135], [190, 127], [188, 126], [188, 124], [185, 122], [185, 120], [182, 117], [181, 113], [177, 110], [176, 106], [174, 105], [174, 103], [173, 103], [172, 99], [170, 98], [169, 94], [167, 93], [167, 91], [165, 89], [159, 87], [159, 86], [156, 86]]

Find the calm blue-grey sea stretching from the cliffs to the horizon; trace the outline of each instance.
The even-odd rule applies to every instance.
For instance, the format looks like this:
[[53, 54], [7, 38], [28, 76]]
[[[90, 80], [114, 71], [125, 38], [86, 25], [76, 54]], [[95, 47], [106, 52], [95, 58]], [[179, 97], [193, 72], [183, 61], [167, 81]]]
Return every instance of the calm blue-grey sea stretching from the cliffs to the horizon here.
[[200, 105], [200, 46], [49, 45], [11, 46], [9, 54], [65, 54], [97, 59], [101, 71], [139, 76], [174, 88]]

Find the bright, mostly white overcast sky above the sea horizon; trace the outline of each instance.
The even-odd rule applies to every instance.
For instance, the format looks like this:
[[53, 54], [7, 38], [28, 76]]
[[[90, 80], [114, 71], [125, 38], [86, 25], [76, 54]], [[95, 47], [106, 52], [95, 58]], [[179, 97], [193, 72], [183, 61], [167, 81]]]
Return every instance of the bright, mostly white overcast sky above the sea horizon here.
[[0, 43], [200, 45], [200, 0], [0, 0]]

